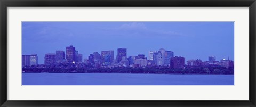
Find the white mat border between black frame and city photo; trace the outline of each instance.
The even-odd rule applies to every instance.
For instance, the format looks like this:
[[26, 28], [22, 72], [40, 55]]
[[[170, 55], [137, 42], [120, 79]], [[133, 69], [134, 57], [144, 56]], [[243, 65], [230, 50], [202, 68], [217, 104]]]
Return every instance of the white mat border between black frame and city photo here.
[[[234, 21], [235, 85], [22, 86], [22, 21]], [[249, 100], [249, 7], [7, 7], [7, 100]]]

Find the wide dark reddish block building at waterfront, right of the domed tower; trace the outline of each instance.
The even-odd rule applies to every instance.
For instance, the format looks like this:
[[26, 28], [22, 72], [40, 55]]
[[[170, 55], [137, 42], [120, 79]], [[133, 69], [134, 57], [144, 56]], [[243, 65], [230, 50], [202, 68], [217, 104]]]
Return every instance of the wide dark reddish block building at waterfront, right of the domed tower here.
[[171, 57], [170, 68], [184, 68], [185, 58], [184, 57]]

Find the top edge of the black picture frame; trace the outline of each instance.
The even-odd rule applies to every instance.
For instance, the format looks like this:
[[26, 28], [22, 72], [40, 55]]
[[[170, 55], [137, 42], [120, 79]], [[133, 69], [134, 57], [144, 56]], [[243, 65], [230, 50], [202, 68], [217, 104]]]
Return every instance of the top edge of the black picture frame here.
[[1, 0], [8, 6], [113, 6], [113, 7], [164, 7], [164, 6], [191, 6], [191, 7], [220, 7], [220, 6], [250, 6], [255, 0]]

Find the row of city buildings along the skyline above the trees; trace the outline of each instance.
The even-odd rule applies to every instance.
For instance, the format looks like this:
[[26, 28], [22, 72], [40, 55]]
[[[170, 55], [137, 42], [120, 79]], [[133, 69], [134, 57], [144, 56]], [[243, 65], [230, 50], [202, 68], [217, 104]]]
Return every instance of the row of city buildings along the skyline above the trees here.
[[[72, 48], [72, 50], [70, 50], [70, 48]], [[220, 60], [216, 59], [216, 56], [208, 56], [208, 60], [201, 60], [201, 59], [186, 59], [186, 57], [184, 56], [179, 56], [176, 55], [174, 56], [174, 52], [172, 51], [167, 51], [164, 48], [160, 48], [158, 51], [148, 51], [148, 56], [153, 55], [153, 59], [150, 59], [150, 57], [146, 57], [145, 54], [137, 54], [137, 55], [132, 55], [132, 56], [127, 56], [127, 48], [117, 48], [117, 54], [116, 56], [114, 55], [114, 51], [113, 50], [109, 50], [109, 51], [101, 51], [101, 54], [99, 54], [98, 52], [93, 52], [92, 54], [90, 54], [88, 57], [84, 58], [84, 60], [82, 59], [82, 54], [79, 54], [77, 50], [75, 50], [75, 47], [73, 45], [67, 46], [66, 47], [66, 55], [65, 56], [65, 51], [60, 51], [57, 50], [55, 51], [56, 53], [46, 53], [45, 57], [44, 57], [44, 64], [59, 64], [59, 63], [93, 63], [93, 64], [100, 64], [100, 66], [113, 66], [115, 64], [121, 64], [121, 63], [125, 63], [122, 62], [123, 61], [123, 56], [126, 57], [126, 61], [127, 61], [127, 65], [131, 65], [132, 64], [139, 64], [139, 65], [143, 65], [143, 66], [147, 66], [148, 63], [155, 63], [157, 66], [173, 66], [170, 65], [170, 63], [174, 64], [171, 60], [174, 58], [174, 60], [180, 60], [183, 59], [184, 61], [182, 62], [183, 65], [200, 65], [202, 63], [212, 63], [212, 64], [217, 64], [217, 65], [225, 65], [223, 63], [226, 63], [227, 61], [231, 61], [233, 63], [234, 60], [231, 60], [229, 57], [228, 58], [222, 58]], [[75, 52], [73, 55], [70, 54], [68, 55], [70, 52]], [[159, 57], [159, 54], [160, 57]], [[77, 56], [77, 55], [81, 55], [81, 56]], [[107, 56], [107, 57], [106, 57]], [[120, 57], [121, 56], [121, 57]], [[135, 56], [135, 57], [134, 57]], [[116, 57], [116, 58], [115, 58]], [[134, 57], [134, 58], [133, 58]], [[178, 59], [175, 59], [175, 58]], [[73, 60], [68, 60], [68, 59], [73, 59]], [[74, 59], [75, 58], [75, 59]], [[121, 59], [122, 60], [121, 60]], [[85, 60], [86, 59], [86, 60]], [[133, 60], [132, 62], [130, 62], [130, 60]], [[143, 64], [134, 63], [134, 60], [137, 59], [145, 59], [147, 60], [147, 62], [143, 62]], [[27, 60], [30, 60], [29, 63], [27, 62]], [[119, 61], [120, 60], [120, 61]], [[148, 62], [149, 61], [149, 62]], [[151, 62], [150, 62], [151, 61]], [[161, 61], [161, 62], [159, 62]], [[223, 62], [223, 63], [222, 63]], [[37, 65], [38, 64], [38, 58], [37, 58], [37, 54], [30, 54], [30, 55], [22, 55], [22, 67], [25, 65]], [[234, 63], [233, 63], [234, 64]], [[126, 66], [127, 66], [126, 65]], [[149, 65], [151, 66], [151, 65]], [[181, 65], [182, 66], [182, 65]], [[225, 65], [226, 67], [229, 67], [230, 65]]]

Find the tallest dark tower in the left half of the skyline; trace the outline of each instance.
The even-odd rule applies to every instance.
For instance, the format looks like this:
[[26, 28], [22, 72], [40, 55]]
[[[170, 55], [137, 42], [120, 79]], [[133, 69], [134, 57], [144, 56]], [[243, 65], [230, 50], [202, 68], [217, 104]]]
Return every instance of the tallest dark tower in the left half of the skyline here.
[[66, 59], [68, 62], [73, 62], [75, 61], [76, 57], [76, 48], [70, 45], [69, 47], [66, 47]]

